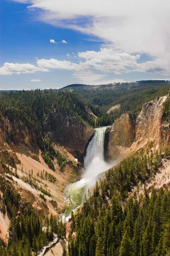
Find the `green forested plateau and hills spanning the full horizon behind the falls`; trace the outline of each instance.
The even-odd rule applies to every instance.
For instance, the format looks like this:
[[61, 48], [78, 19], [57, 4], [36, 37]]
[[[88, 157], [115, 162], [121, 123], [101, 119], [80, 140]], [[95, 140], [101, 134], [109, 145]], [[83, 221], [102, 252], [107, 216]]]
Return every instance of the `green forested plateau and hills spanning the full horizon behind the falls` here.
[[[24, 119], [43, 122], [49, 111], [75, 116], [92, 127], [111, 125], [122, 113], [139, 113], [144, 103], [164, 96], [170, 89], [170, 81], [148, 80], [131, 83], [103, 85], [72, 84], [60, 90], [0, 91], [0, 111], [6, 117], [14, 111], [25, 111]], [[65, 92], [65, 93], [64, 93]], [[109, 108], [120, 108], [107, 113]], [[10, 113], [11, 114], [10, 114]], [[23, 116], [22, 113], [15, 115]], [[94, 115], [90, 115], [92, 112]]]

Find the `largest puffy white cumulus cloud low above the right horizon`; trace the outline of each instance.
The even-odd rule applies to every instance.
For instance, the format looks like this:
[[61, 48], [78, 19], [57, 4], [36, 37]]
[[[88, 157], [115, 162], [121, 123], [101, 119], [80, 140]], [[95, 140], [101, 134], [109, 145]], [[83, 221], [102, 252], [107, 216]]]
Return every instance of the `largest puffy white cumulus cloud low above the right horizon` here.
[[[67, 55], [68, 56], [68, 55]], [[58, 61], [57, 59], [37, 59], [37, 66], [48, 70], [69, 70], [74, 76], [81, 78], [82, 72], [92, 77], [92, 73], [131, 73], [149, 72], [164, 74], [166, 70], [156, 61], [140, 63], [140, 55], [130, 55], [126, 52], [116, 52], [112, 49], [101, 48], [100, 51], [78, 52], [80, 61]], [[89, 73], [88, 73], [89, 72]], [[102, 75], [103, 76], [103, 75]], [[105, 75], [104, 75], [105, 76]]]

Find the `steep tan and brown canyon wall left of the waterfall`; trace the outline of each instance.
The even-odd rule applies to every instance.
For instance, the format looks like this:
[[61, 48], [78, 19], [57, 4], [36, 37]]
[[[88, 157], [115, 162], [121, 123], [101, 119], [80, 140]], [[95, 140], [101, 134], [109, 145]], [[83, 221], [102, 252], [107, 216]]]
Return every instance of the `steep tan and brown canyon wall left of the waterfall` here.
[[[13, 183], [22, 200], [31, 202], [42, 215], [59, 215], [64, 210], [63, 190], [79, 179], [82, 169], [79, 161], [94, 129], [75, 117], [55, 113], [46, 115], [44, 127], [42, 136], [38, 125], [30, 129], [19, 119], [9, 121], [0, 115], [0, 178]], [[54, 148], [55, 156], [50, 160], [54, 168], [46, 161], [50, 152], [46, 153], [47, 158], [43, 157], [42, 140]], [[3, 193], [0, 195], [2, 198]], [[0, 211], [3, 239], [8, 234], [10, 218]]]

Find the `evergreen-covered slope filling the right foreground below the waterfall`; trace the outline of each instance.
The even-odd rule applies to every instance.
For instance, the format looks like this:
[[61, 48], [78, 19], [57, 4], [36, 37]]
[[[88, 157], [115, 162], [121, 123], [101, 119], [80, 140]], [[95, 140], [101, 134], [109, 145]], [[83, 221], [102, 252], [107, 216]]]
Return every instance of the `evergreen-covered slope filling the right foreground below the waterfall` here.
[[162, 157], [158, 151], [128, 157], [96, 182], [81, 212], [72, 215], [69, 256], [170, 255], [169, 188], [153, 186], [151, 195], [145, 188], [142, 195], [138, 187], [129, 194], [157, 172]]

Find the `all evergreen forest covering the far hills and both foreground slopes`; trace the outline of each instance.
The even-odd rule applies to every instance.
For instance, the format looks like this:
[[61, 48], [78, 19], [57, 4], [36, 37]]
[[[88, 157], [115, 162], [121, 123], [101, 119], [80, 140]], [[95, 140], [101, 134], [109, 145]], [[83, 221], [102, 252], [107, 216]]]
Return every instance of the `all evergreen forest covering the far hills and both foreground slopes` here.
[[[21, 122], [29, 131], [38, 131], [39, 147], [49, 167], [58, 159], [62, 168], [65, 157], [56, 151], [46, 137], [44, 120], [50, 112], [74, 116], [91, 127], [111, 125], [122, 113], [139, 113], [142, 104], [169, 92], [169, 81], [89, 86], [73, 84], [61, 90], [0, 92], [0, 122]], [[120, 108], [107, 113], [109, 108]], [[95, 118], [94, 118], [95, 116]], [[164, 102], [161, 122], [170, 121], [170, 96]], [[145, 187], [158, 172], [163, 159], [169, 159], [170, 147], [164, 153], [141, 149], [109, 169], [95, 183], [84, 204], [71, 215], [68, 252], [63, 256], [170, 256], [170, 188]], [[8, 180], [5, 178], [8, 175]], [[46, 173], [55, 182], [55, 177]], [[27, 177], [24, 182], [32, 183]], [[45, 202], [41, 190], [40, 197]], [[37, 255], [43, 245], [58, 234], [66, 238], [66, 224], [55, 215], [45, 216], [26, 200], [13, 184], [9, 167], [0, 162], [0, 211], [10, 216], [9, 238], [0, 239], [0, 256]], [[42, 228], [45, 227], [45, 228]]]

